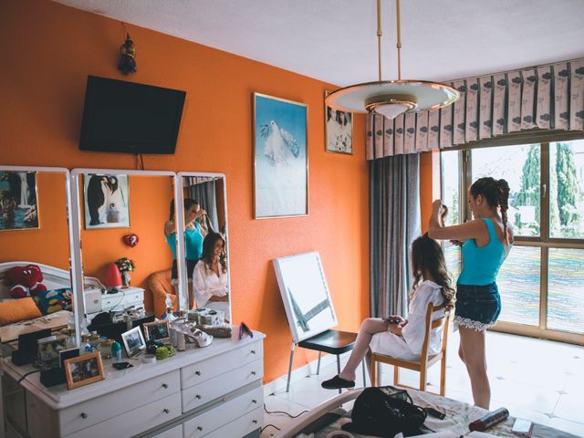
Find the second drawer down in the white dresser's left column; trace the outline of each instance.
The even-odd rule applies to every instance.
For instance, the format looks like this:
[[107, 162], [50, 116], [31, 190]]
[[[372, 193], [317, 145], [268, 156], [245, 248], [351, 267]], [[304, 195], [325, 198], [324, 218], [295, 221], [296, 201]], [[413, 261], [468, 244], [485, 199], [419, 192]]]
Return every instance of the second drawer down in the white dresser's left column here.
[[181, 396], [177, 392], [70, 434], [67, 438], [130, 437], [179, 416], [181, 416]]

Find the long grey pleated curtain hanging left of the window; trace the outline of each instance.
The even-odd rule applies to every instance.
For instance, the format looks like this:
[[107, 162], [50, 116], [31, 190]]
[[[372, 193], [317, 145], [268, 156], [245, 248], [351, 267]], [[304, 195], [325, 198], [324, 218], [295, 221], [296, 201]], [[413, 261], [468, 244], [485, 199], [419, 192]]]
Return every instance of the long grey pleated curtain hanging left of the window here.
[[370, 312], [406, 315], [410, 248], [420, 235], [420, 156], [370, 162]]

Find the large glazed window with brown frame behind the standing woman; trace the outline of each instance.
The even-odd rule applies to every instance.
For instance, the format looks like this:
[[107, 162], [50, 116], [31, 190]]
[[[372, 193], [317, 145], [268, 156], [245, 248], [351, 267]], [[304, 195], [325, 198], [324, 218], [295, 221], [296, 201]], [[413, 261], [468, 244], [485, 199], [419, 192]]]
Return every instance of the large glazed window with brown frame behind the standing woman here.
[[[509, 183], [515, 245], [497, 276], [503, 310], [496, 329], [584, 343], [584, 140], [443, 151], [443, 203], [449, 223], [470, 219], [477, 178]], [[461, 252], [444, 244], [454, 278]]]

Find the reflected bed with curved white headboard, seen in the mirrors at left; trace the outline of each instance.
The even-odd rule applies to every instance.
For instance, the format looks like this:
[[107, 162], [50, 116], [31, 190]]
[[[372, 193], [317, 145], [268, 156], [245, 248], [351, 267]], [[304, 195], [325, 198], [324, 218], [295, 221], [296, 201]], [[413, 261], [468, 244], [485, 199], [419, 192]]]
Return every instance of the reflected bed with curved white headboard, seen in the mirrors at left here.
[[[43, 273], [43, 284], [47, 287], [47, 290], [55, 290], [61, 288], [71, 287], [71, 280], [69, 271], [60, 269], [55, 266], [43, 265], [36, 262], [29, 261], [16, 261], [16, 262], [4, 262], [0, 263], [0, 302], [1, 303], [17, 303], [18, 300], [24, 298], [12, 298], [10, 297], [10, 287], [5, 285], [5, 275], [6, 272], [14, 266], [26, 266], [26, 265], [36, 265], [39, 266]], [[86, 293], [90, 289], [105, 290], [105, 287], [101, 284], [99, 279], [86, 276], [84, 280]], [[47, 315], [42, 315], [39, 311], [37, 318], [24, 318], [19, 321], [7, 324], [0, 327], [0, 342], [10, 342], [12, 340], [18, 339], [18, 336], [24, 333], [29, 333], [32, 331], [40, 330], [42, 328], [57, 329], [62, 327], [67, 327], [69, 316], [71, 312], [68, 310], [58, 310], [54, 313], [48, 313]]]

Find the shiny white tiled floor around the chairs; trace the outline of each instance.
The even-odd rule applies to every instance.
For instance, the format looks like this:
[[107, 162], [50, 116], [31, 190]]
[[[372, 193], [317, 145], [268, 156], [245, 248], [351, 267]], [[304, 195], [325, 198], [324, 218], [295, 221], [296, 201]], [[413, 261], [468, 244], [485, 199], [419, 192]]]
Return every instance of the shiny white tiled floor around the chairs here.
[[[448, 345], [446, 396], [460, 401], [473, 401], [470, 382], [464, 364], [458, 359], [458, 332], [454, 332]], [[348, 354], [341, 357], [344, 362]], [[584, 437], [584, 349], [582, 347], [530, 339], [502, 333], [487, 334], [488, 375], [491, 381], [491, 409], [505, 406], [511, 415], [558, 428]], [[431, 391], [437, 391], [439, 365], [430, 370]], [[323, 367], [320, 375], [293, 381], [284, 389], [266, 397], [266, 410], [284, 411], [292, 415], [317, 406], [337, 394], [320, 388], [320, 381], [337, 374], [335, 364]], [[385, 365], [382, 384], [391, 384], [392, 367]], [[358, 370], [358, 386], [362, 384]], [[415, 385], [418, 374], [401, 370], [401, 381]], [[291, 421], [284, 414], [266, 413], [265, 425], [281, 427]], [[262, 438], [276, 434], [276, 429], [266, 427]]]

